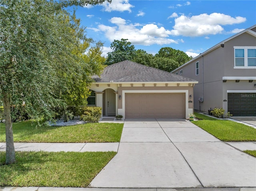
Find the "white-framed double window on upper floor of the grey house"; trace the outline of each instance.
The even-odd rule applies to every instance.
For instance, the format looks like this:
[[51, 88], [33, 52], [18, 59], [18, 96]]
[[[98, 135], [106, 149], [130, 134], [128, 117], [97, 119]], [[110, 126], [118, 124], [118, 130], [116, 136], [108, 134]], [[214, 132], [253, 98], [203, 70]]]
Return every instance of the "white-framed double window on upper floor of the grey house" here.
[[256, 67], [256, 47], [234, 47], [234, 51], [234, 68]]

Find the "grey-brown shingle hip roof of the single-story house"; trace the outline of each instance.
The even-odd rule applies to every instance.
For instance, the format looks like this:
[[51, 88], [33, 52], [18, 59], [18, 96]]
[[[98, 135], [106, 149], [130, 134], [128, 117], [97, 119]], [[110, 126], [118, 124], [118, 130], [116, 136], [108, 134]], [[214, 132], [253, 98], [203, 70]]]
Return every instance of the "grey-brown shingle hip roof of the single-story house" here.
[[96, 82], [192, 82], [195, 80], [148, 67], [132, 61], [122, 61], [107, 66], [102, 75], [94, 76]]

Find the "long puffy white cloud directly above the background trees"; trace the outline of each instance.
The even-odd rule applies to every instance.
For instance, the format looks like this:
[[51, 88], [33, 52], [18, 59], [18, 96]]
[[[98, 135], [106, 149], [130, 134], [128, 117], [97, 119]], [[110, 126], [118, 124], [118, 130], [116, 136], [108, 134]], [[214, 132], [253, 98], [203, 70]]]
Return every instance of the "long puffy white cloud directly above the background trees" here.
[[116, 26], [98, 25], [98, 29], [105, 33], [109, 41], [123, 38], [128, 39], [132, 44], [140, 45], [178, 43], [178, 41], [168, 38], [171, 34], [170, 30], [159, 28], [156, 24], [127, 24], [126, 20], [120, 17], [113, 17], [110, 22]]

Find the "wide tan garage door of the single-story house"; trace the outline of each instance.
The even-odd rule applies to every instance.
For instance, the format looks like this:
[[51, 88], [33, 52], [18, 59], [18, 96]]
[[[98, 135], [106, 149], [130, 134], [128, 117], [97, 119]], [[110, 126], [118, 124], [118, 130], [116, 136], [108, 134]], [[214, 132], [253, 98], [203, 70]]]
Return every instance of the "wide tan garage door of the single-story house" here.
[[126, 93], [126, 118], [185, 118], [185, 93]]

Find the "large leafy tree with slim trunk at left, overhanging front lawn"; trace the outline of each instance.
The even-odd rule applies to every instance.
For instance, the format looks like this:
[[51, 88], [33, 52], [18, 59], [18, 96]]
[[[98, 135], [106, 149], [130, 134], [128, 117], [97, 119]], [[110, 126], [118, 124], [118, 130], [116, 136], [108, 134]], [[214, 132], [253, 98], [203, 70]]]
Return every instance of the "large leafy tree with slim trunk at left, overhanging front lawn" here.
[[6, 120], [6, 164], [16, 161], [12, 133], [15, 108], [24, 108], [32, 119], [51, 119], [54, 107], [86, 95], [90, 76], [102, 69], [98, 63], [102, 62], [98, 56], [102, 44], [92, 47], [93, 41], [86, 38], [79, 20], [64, 10], [102, 2], [1, 0], [0, 99]]

